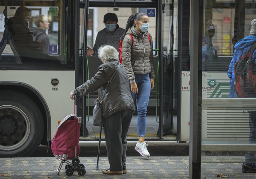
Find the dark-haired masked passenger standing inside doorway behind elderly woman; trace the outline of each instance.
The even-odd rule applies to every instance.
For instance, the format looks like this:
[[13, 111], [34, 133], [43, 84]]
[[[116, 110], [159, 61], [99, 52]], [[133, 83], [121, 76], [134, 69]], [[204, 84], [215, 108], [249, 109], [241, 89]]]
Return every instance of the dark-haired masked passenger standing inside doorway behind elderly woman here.
[[111, 45], [118, 50], [119, 38], [122, 36], [125, 29], [120, 28], [118, 23], [118, 17], [114, 13], [107, 13], [104, 15], [103, 23], [106, 28], [98, 32], [93, 48], [87, 47], [88, 50], [86, 55], [92, 56], [96, 55], [100, 46]]

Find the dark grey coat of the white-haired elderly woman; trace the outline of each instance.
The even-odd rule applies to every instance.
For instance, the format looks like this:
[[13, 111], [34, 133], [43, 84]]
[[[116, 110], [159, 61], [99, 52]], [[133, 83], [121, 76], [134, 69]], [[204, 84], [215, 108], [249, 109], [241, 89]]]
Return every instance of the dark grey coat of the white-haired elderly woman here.
[[[100, 65], [95, 76], [77, 87], [73, 93], [78, 98], [81, 98], [98, 89], [100, 99], [106, 89], [107, 82], [118, 67], [118, 63], [118, 60], [112, 60]], [[118, 71], [107, 87], [107, 91], [103, 99], [104, 118], [122, 110], [134, 110], [134, 103], [129, 86], [130, 83], [128, 81], [126, 70], [123, 65], [120, 64]]]

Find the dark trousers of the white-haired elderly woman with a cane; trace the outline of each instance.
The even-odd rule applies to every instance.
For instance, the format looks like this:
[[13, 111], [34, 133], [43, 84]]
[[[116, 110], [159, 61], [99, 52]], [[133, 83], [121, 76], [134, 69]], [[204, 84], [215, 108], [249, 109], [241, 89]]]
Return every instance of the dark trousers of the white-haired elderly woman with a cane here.
[[123, 110], [104, 119], [104, 131], [111, 171], [126, 169], [126, 136], [131, 123], [133, 110]]

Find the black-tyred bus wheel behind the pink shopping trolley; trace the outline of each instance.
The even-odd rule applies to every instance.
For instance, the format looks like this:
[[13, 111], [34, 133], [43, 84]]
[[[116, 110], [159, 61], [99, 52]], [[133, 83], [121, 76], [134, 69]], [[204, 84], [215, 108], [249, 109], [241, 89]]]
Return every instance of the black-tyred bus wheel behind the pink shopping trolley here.
[[17, 91], [0, 91], [0, 157], [29, 157], [43, 138], [36, 103]]

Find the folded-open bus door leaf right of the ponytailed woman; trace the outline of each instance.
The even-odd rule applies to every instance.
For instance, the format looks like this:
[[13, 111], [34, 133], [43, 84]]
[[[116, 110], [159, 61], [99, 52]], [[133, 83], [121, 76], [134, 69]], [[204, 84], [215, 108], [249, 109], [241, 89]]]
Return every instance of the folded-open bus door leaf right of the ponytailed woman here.
[[[174, 24], [173, 12], [175, 7], [172, 1], [161, 2], [161, 14], [159, 15], [159, 52], [161, 57], [158, 64], [157, 82], [159, 82], [159, 138], [176, 140], [176, 108], [173, 100], [175, 80], [174, 80]], [[177, 10], [177, 9], [176, 9]], [[161, 23], [160, 23], [161, 22]]]

